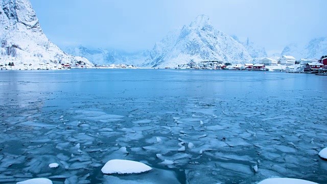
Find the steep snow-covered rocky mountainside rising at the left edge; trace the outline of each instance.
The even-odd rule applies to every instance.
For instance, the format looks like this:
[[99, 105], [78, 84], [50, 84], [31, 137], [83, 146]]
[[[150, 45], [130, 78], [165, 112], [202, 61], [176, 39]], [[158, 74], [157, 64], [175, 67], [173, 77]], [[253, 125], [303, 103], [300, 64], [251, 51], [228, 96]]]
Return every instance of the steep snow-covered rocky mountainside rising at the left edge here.
[[65, 54], [42, 32], [38, 18], [28, 0], [0, 0], [0, 64], [15, 66], [40, 63], [52, 65], [87, 59]]

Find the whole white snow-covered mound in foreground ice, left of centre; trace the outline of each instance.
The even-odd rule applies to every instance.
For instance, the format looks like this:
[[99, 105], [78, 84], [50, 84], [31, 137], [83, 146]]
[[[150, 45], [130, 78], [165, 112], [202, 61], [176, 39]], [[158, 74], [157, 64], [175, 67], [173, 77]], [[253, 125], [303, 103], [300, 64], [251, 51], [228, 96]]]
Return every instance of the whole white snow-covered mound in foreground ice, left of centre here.
[[132, 174], [150, 171], [152, 168], [139, 162], [123, 159], [109, 160], [101, 169], [104, 174]]

